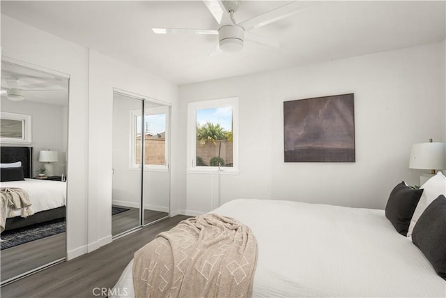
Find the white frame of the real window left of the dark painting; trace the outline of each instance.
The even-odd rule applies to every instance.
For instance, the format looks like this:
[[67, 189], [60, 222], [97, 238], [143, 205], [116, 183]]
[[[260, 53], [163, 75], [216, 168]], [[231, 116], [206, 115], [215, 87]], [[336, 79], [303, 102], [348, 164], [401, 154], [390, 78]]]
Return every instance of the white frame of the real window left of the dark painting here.
[[[197, 110], [232, 108], [233, 166], [197, 166]], [[187, 172], [238, 174], [238, 97], [194, 101], [187, 104]]]

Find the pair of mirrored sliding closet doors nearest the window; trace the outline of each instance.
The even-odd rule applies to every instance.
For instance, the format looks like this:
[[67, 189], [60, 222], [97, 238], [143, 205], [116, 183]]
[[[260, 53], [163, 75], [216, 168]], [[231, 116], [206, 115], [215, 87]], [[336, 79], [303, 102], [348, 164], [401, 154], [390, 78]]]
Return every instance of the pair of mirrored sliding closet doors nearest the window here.
[[113, 237], [169, 217], [170, 113], [160, 100], [114, 90]]

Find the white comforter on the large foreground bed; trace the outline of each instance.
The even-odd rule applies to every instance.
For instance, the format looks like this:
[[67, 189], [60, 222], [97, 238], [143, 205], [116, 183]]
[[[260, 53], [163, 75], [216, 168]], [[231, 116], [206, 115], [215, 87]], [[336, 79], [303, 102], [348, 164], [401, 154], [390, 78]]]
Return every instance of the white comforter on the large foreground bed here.
[[[446, 281], [383, 210], [233, 200], [213, 212], [256, 236], [253, 297], [446, 297]], [[116, 288], [132, 297], [131, 263]]]

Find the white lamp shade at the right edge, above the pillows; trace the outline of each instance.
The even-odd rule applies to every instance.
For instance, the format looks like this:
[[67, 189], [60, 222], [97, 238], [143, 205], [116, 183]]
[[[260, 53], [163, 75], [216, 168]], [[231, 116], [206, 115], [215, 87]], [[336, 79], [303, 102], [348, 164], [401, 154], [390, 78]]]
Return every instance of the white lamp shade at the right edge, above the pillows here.
[[412, 145], [410, 169], [443, 170], [446, 168], [446, 143], [430, 142]]

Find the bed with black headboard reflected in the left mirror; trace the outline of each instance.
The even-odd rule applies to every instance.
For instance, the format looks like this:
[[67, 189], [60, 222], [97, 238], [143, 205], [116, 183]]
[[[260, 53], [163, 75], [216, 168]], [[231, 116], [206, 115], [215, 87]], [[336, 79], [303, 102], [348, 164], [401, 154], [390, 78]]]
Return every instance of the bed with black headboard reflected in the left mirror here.
[[[52, 221], [66, 216], [66, 184], [61, 181], [33, 179], [33, 148], [32, 147], [1, 147], [1, 163], [22, 163], [23, 177], [13, 181], [6, 178], [5, 170], [10, 165], [1, 167], [1, 188], [22, 188], [29, 195], [33, 215], [22, 217], [21, 210], [6, 209], [5, 230], [24, 228], [36, 223]], [[19, 170], [19, 169], [15, 169]], [[15, 171], [14, 170], [14, 171]], [[20, 170], [21, 171], [21, 170]], [[16, 172], [16, 171], [15, 171]]]

